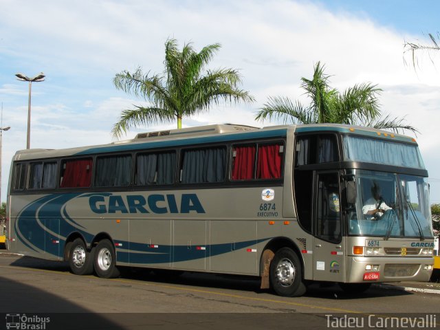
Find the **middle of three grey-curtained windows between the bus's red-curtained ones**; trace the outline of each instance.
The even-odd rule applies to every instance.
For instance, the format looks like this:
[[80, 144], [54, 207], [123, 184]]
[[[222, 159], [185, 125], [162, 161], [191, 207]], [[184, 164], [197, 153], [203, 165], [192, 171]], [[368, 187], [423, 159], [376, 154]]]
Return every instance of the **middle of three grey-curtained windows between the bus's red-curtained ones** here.
[[176, 153], [148, 153], [137, 155], [136, 184], [173, 184]]

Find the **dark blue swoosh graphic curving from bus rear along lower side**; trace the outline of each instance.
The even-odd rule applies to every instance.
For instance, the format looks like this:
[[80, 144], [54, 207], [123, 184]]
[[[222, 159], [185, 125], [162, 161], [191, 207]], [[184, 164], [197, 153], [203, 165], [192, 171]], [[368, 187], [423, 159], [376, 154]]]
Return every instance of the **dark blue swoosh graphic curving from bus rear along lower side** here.
[[[23, 244], [35, 252], [39, 252], [38, 250], [40, 250], [54, 256], [62, 256], [65, 239], [69, 234], [72, 234], [72, 232], [80, 232], [87, 243], [91, 243], [94, 239], [94, 235], [87, 232], [83, 225], [80, 225], [69, 216], [66, 210], [66, 203], [75, 198], [92, 196], [107, 197], [110, 195], [112, 194], [106, 192], [86, 194], [69, 193], [47, 195], [36, 199], [36, 201], [25, 206], [25, 208], [19, 212], [15, 223], [17, 236], [19, 236]], [[59, 221], [59, 235], [52, 234], [52, 232], [56, 232], [56, 229], [58, 229], [57, 223], [54, 221]], [[54, 228], [54, 223], [56, 228]], [[26, 238], [26, 234], [29, 232], [32, 232], [32, 239]], [[51, 237], [58, 239], [59, 245], [53, 244], [50, 240]], [[269, 239], [270, 238], [236, 242], [235, 250], [248, 248]], [[124, 251], [124, 248], [118, 248], [118, 261], [137, 264], [188, 261], [231, 252], [230, 243], [206, 245], [206, 250], [197, 250], [194, 247], [190, 252], [188, 252], [187, 245], [159, 245], [157, 249], [152, 251], [153, 249], [145, 243], [128, 241], [115, 241], [115, 243], [121, 243], [122, 246], [129, 247], [129, 251]]]

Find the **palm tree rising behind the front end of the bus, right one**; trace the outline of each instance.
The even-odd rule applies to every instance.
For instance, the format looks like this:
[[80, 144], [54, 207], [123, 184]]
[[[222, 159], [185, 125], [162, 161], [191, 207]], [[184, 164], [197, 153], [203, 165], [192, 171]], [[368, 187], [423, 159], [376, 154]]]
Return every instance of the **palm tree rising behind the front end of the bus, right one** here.
[[287, 97], [271, 96], [255, 119], [264, 121], [274, 118], [293, 124], [339, 123], [417, 132], [414, 127], [404, 124], [403, 118], [391, 118], [390, 115], [381, 118], [378, 96], [382, 89], [377, 85], [354, 85], [341, 94], [338, 89], [329, 86], [329, 76], [324, 69], [325, 66], [318, 62], [311, 80], [301, 78], [301, 88], [311, 98], [308, 106]]

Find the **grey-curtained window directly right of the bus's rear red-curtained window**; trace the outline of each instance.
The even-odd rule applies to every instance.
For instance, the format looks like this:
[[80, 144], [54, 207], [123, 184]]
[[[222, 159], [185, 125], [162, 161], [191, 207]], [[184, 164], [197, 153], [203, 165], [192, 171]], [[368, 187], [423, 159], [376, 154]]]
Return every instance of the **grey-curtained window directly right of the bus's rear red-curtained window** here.
[[98, 157], [95, 186], [120, 187], [131, 183], [131, 155]]

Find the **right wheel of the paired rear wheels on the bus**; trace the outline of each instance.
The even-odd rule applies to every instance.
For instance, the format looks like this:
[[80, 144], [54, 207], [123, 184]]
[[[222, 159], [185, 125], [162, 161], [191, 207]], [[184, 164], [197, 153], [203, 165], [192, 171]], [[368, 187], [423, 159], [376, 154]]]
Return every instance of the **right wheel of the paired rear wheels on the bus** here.
[[103, 239], [96, 245], [94, 252], [94, 268], [96, 275], [102, 278], [115, 278], [120, 275], [116, 267], [116, 254], [113, 244]]

